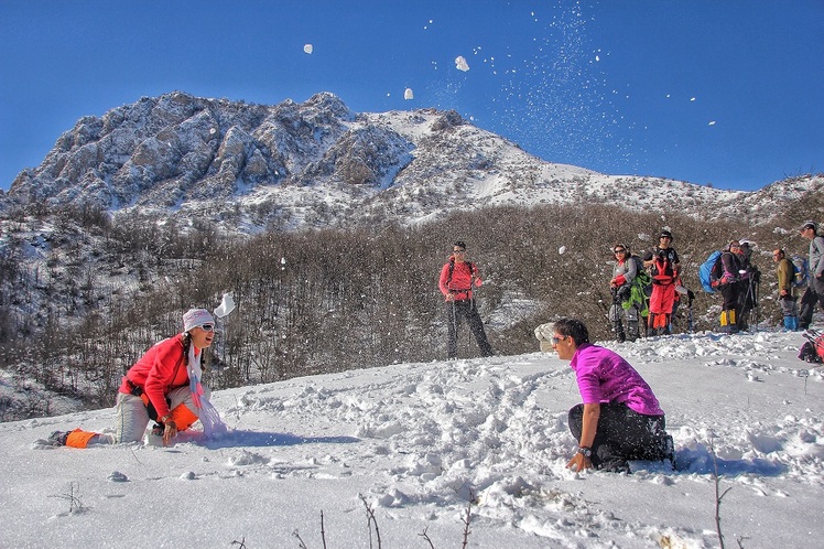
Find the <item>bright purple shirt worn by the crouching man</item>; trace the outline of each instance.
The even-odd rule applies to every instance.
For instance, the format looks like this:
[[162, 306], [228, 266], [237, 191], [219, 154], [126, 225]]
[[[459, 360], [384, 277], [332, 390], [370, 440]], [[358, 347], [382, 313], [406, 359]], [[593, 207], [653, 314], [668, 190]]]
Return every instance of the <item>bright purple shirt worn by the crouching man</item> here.
[[575, 351], [570, 365], [585, 405], [626, 403], [644, 416], [664, 415], [647, 381], [617, 353], [584, 343]]

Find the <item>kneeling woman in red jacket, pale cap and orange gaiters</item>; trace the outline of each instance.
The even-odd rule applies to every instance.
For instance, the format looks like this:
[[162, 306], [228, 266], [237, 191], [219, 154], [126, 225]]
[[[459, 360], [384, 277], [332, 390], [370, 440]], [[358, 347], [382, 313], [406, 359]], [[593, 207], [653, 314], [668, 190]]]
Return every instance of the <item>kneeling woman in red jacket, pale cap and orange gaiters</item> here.
[[55, 431], [52, 445], [86, 448], [95, 443], [138, 442], [143, 439], [149, 420], [156, 424], [152, 434], [162, 437], [164, 445], [178, 431], [185, 431], [199, 419], [204, 349], [215, 336], [215, 320], [205, 309], [191, 309], [183, 315], [183, 332], [164, 340], [147, 353], [123, 377], [117, 395], [116, 433], [97, 433], [75, 429]]

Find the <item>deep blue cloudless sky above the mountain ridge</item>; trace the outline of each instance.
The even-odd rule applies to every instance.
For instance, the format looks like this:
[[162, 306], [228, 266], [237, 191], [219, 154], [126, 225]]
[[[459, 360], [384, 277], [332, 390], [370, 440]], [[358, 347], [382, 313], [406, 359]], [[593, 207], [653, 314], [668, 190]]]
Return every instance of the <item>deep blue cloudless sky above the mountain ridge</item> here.
[[0, 189], [183, 90], [455, 109], [547, 161], [757, 190], [824, 172], [822, 36], [824, 0], [0, 0]]

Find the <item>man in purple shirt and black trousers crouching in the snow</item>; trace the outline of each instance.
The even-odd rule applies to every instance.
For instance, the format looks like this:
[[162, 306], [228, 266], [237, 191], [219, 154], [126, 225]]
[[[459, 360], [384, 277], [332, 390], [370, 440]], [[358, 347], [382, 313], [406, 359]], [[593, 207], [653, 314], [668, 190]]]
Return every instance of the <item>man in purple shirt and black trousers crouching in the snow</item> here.
[[640, 374], [608, 348], [589, 343], [583, 322], [562, 319], [552, 346], [571, 366], [584, 403], [570, 410], [570, 431], [578, 451], [566, 464], [575, 471], [629, 473], [628, 460], [672, 460], [664, 412]]

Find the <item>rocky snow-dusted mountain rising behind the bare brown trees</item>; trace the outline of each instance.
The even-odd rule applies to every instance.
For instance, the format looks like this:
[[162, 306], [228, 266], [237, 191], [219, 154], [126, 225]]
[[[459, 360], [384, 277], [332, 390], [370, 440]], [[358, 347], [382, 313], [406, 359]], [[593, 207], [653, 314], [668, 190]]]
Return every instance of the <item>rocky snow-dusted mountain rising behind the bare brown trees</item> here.
[[20, 173], [0, 208], [90, 204], [253, 233], [272, 223], [409, 223], [503, 204], [652, 205], [760, 219], [773, 201], [804, 190], [813, 187], [722, 191], [551, 163], [454, 111], [358, 114], [328, 93], [263, 106], [176, 92], [82, 118], [40, 166]]

